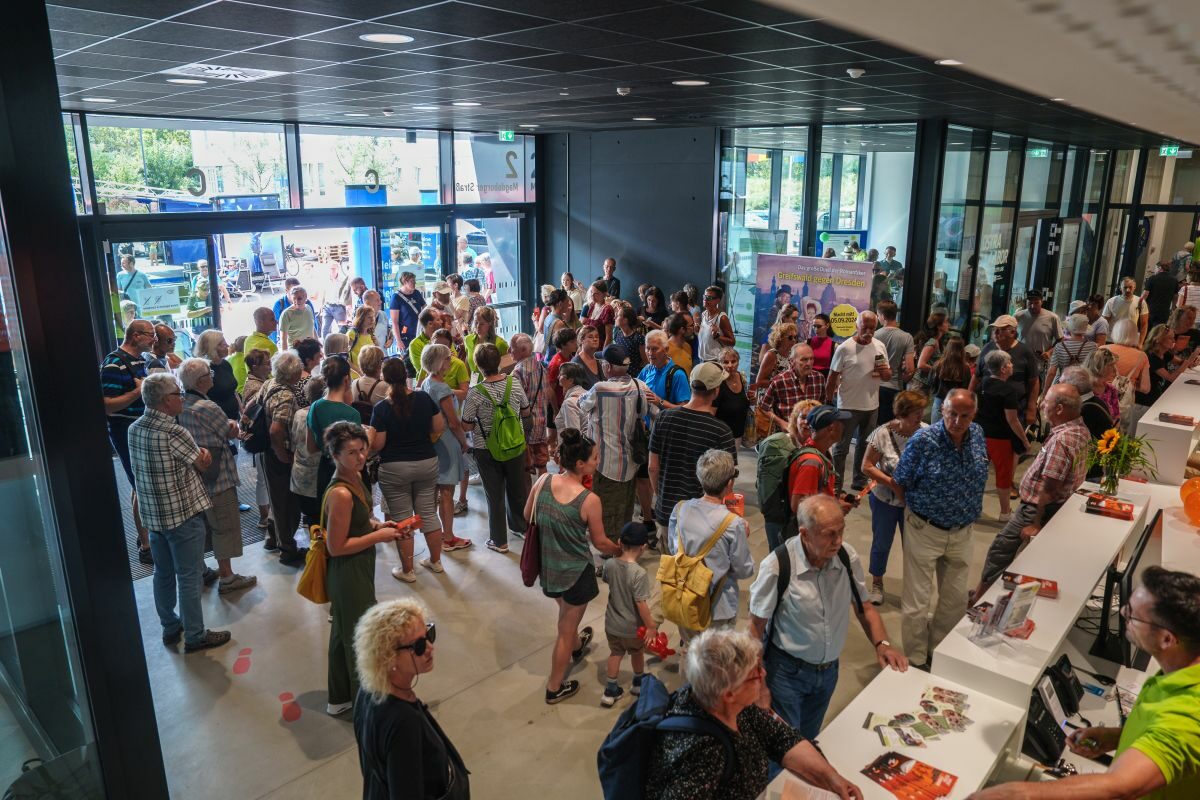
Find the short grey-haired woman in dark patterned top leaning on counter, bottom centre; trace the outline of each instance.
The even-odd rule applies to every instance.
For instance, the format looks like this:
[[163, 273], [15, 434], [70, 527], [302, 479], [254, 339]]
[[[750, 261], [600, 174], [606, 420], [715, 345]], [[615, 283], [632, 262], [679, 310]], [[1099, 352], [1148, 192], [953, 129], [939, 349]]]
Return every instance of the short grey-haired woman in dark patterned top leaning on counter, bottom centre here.
[[767, 788], [770, 762], [838, 796], [863, 796], [798, 730], [758, 705], [767, 674], [761, 642], [749, 633], [709, 628], [688, 648], [686, 668], [690, 686], [678, 692], [667, 712], [708, 720], [738, 735], [737, 783], [721, 786], [721, 770], [712, 768], [725, 759], [718, 738], [661, 732], [650, 757], [647, 800], [756, 798]]

